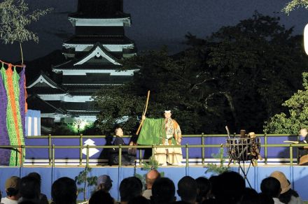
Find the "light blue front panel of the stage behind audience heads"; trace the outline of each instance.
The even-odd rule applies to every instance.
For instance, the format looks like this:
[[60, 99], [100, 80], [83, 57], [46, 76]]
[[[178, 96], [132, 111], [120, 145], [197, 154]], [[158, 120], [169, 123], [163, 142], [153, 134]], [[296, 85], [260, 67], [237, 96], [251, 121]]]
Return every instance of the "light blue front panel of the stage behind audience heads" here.
[[[89, 176], [94, 175], [109, 175], [113, 180], [113, 187], [111, 189], [111, 196], [116, 199], [120, 199], [118, 194], [118, 187], [120, 185], [121, 180], [125, 177], [133, 176], [135, 173], [139, 175], [146, 174], [146, 170], [142, 170], [141, 167], [134, 168], [134, 166], [129, 167], [121, 167], [117, 166], [91, 166], [92, 171]], [[74, 166], [56, 166], [55, 168], [48, 166], [24, 166], [22, 168], [18, 167], [1, 167], [0, 168], [0, 187], [1, 191], [4, 191], [4, 183], [6, 178], [12, 175], [18, 175], [23, 177], [30, 172], [37, 172], [42, 176], [42, 187], [41, 190], [43, 194], [46, 194], [50, 199], [50, 190], [52, 182], [57, 180], [59, 177], [71, 177], [75, 178], [76, 175], [80, 173], [80, 171], [84, 170], [85, 167], [74, 167]], [[197, 178], [200, 176], [210, 177], [211, 173], [205, 173], [207, 168], [204, 166], [168, 166], [165, 168], [158, 168], [160, 172], [165, 173], [165, 177], [169, 177], [174, 181], [174, 184], [177, 185], [177, 182], [181, 179], [181, 177], [185, 175], [190, 175], [193, 178]], [[231, 170], [238, 171], [237, 165], [232, 165]], [[286, 177], [290, 180], [293, 189], [297, 191], [298, 194], [302, 197], [304, 201], [308, 201], [307, 194], [307, 183], [308, 183], [308, 166], [288, 166], [288, 165], [260, 165], [257, 167], [251, 167], [248, 171], [248, 181], [251, 183], [251, 187], [253, 189], [260, 192], [260, 183], [262, 179], [269, 176], [274, 170], [280, 170], [283, 172]], [[248, 187], [248, 184], [246, 184]], [[90, 189], [87, 189], [87, 198], [90, 196]], [[78, 200], [83, 200], [83, 194], [80, 193], [78, 195]]]

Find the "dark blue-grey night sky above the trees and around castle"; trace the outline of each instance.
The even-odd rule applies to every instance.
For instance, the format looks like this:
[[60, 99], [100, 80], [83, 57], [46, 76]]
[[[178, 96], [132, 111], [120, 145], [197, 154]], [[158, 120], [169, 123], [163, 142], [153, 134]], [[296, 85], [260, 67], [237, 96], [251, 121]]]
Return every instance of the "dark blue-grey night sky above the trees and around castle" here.
[[[77, 10], [77, 0], [25, 0], [30, 8], [52, 7], [52, 13], [31, 24], [39, 43], [24, 44], [25, 61], [43, 57], [52, 50], [62, 49], [62, 42], [73, 34], [67, 20]], [[289, 16], [280, 10], [289, 0], [124, 0], [124, 11], [132, 15], [132, 27], [126, 35], [135, 41], [139, 52], [168, 45], [170, 53], [185, 49], [184, 36], [190, 32], [204, 38], [222, 26], [235, 25], [251, 17], [255, 10], [263, 15], [279, 16], [294, 34], [302, 34], [308, 23], [308, 10], [302, 8]], [[0, 44], [0, 59], [20, 60], [18, 44]]]

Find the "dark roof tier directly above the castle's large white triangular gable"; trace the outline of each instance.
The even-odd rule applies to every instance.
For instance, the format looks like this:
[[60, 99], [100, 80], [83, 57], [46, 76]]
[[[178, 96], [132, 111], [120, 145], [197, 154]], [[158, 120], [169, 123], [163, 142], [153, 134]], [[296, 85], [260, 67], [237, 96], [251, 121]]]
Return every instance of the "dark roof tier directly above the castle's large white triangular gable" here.
[[94, 45], [101, 43], [102, 45], [130, 45], [134, 41], [126, 36], [72, 36], [64, 41], [64, 45]]

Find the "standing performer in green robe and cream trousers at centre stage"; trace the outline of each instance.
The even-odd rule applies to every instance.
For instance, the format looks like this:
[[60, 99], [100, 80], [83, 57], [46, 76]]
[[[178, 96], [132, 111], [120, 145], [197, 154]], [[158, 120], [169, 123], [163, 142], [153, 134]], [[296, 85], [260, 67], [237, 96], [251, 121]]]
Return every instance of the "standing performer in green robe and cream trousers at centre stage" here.
[[170, 147], [154, 148], [155, 161], [161, 166], [172, 165], [182, 166], [183, 160], [181, 147], [182, 135], [179, 124], [172, 119], [171, 110], [165, 110], [165, 119], [151, 119], [142, 116], [143, 126], [139, 134], [137, 143], [139, 145], [169, 145]]

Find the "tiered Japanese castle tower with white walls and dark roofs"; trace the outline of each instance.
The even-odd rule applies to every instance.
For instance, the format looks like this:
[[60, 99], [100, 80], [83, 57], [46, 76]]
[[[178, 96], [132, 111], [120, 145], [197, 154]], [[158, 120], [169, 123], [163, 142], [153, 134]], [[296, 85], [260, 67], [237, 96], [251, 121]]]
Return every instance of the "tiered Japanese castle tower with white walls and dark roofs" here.
[[121, 0], [78, 0], [78, 9], [69, 14], [69, 21], [75, 34], [62, 44], [67, 61], [52, 66], [59, 82], [41, 74], [28, 86], [28, 92], [53, 106], [49, 112], [41, 112], [55, 122], [71, 117], [93, 122], [99, 112], [94, 108], [93, 94], [123, 85], [134, 74], [134, 70], [118, 71], [120, 59], [136, 54], [124, 29], [131, 25], [131, 18], [123, 13]]

